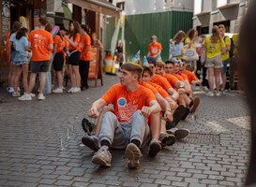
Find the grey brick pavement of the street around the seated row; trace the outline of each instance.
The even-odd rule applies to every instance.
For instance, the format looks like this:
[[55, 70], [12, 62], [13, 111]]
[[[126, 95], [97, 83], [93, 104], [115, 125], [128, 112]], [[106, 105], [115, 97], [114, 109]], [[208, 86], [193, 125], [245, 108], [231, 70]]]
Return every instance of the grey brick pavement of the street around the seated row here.
[[[45, 101], [19, 102], [0, 89], [0, 186], [243, 186], [248, 167], [249, 119], [239, 94], [202, 99], [196, 120], [179, 126], [205, 139], [187, 138], [149, 158], [143, 150], [138, 170], [128, 170], [124, 151], [112, 151], [112, 167], [91, 163], [81, 146], [81, 120], [104, 86], [82, 94], [51, 94]], [[93, 85], [93, 82], [90, 82]], [[70, 125], [71, 123], [71, 125]], [[67, 138], [67, 128], [69, 128]], [[200, 134], [200, 135], [198, 135]], [[207, 136], [216, 139], [207, 141]], [[60, 150], [60, 137], [65, 150]]]

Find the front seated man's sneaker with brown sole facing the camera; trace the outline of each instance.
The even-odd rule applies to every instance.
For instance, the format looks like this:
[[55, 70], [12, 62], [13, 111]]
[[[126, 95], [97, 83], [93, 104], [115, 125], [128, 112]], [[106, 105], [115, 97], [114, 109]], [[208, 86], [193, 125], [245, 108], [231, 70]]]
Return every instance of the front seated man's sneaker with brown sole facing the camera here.
[[141, 150], [134, 144], [129, 143], [125, 155], [128, 159], [128, 168], [138, 168], [140, 166]]

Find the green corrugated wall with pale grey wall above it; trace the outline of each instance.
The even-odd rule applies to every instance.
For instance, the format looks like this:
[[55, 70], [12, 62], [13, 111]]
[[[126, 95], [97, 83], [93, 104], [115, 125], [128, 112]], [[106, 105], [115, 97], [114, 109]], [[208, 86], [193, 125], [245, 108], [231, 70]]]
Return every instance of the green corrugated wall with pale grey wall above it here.
[[[162, 59], [169, 57], [169, 40], [179, 30], [188, 31], [192, 27], [193, 0], [113, 0], [113, 5], [123, 9], [124, 43], [127, 58], [141, 50], [141, 58], [147, 55], [150, 37], [158, 36], [162, 44]], [[110, 48], [114, 23], [107, 22], [106, 48]], [[119, 32], [119, 39], [121, 39]], [[108, 39], [109, 38], [109, 39]]]

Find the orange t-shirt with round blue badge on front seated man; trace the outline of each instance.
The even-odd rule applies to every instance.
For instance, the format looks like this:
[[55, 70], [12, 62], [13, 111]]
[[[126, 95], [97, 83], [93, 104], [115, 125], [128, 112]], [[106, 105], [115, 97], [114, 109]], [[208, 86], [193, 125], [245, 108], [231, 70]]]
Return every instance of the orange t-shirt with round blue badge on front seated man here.
[[149, 107], [149, 103], [157, 100], [156, 96], [149, 89], [139, 85], [132, 93], [120, 83], [114, 84], [101, 97], [107, 104], [113, 104], [114, 114], [119, 122], [130, 122], [134, 112]]

